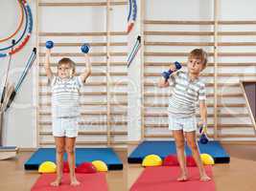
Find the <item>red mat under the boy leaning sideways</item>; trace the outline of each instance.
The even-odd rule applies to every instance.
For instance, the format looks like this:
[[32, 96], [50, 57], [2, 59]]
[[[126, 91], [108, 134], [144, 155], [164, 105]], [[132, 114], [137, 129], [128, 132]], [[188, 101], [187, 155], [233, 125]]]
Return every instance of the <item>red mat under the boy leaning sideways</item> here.
[[[207, 175], [213, 179], [212, 167], [204, 166]], [[200, 181], [198, 167], [188, 167], [189, 180], [177, 181], [178, 166], [156, 166], [144, 169], [130, 191], [214, 191], [214, 180]]]

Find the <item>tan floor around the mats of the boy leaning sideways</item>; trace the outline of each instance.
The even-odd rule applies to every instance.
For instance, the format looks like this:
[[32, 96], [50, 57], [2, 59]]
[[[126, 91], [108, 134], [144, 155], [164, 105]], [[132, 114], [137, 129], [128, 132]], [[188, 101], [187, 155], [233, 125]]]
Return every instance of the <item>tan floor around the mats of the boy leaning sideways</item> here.
[[[256, 145], [222, 144], [230, 155], [230, 163], [215, 164], [213, 176], [217, 191], [253, 191], [256, 178]], [[129, 147], [128, 153], [134, 149]], [[138, 179], [143, 168], [128, 165], [128, 188]]]

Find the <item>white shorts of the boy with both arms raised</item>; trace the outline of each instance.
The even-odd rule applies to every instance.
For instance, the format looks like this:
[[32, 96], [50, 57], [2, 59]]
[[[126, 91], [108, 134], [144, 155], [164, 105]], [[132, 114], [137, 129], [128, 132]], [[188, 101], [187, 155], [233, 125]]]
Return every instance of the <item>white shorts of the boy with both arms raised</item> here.
[[79, 131], [79, 117], [54, 117], [54, 137], [77, 138]]

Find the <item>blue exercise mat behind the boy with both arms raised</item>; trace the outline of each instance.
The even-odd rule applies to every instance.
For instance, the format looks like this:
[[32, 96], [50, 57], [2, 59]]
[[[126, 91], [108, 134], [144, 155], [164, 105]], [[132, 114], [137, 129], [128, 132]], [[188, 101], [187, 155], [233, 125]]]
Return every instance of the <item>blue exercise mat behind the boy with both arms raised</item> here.
[[[109, 170], [122, 170], [123, 163], [111, 148], [76, 148], [76, 165], [85, 161], [103, 160]], [[26, 170], [37, 170], [44, 161], [56, 162], [55, 148], [39, 148], [24, 164]], [[64, 154], [64, 160], [67, 155]]]

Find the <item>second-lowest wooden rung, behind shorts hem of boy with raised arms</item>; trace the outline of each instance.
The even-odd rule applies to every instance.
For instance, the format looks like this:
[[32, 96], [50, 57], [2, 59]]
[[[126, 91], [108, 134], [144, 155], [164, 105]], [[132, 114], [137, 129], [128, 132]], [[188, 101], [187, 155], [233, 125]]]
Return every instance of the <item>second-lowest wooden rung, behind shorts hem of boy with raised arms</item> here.
[[[105, 131], [79, 131], [80, 136], [105, 136], [107, 132]], [[52, 136], [53, 132], [39, 132], [40, 136]], [[110, 135], [113, 136], [127, 136], [128, 132], [124, 131], [111, 131]]]

